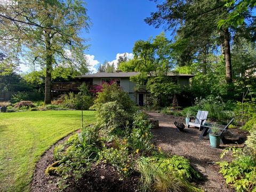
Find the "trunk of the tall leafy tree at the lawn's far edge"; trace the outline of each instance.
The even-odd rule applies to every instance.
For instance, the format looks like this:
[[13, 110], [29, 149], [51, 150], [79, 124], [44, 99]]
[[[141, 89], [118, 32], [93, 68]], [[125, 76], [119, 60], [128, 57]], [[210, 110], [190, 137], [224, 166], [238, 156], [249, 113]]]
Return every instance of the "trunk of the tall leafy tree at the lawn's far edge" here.
[[45, 76], [45, 93], [44, 104], [51, 104], [52, 89], [52, 53], [50, 34], [46, 34], [46, 76]]

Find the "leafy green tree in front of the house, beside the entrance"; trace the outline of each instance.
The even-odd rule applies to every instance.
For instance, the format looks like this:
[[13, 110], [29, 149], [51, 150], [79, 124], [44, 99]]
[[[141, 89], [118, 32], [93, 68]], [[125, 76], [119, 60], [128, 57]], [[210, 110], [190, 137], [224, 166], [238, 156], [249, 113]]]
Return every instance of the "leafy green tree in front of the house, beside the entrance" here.
[[180, 91], [178, 85], [167, 76], [174, 68], [171, 45], [164, 33], [147, 41], [139, 40], [133, 47], [134, 59], [120, 65], [122, 71], [140, 72], [131, 77], [132, 81], [139, 85], [146, 82], [147, 90], [158, 100], [158, 105], [162, 105], [163, 95], [168, 97]]

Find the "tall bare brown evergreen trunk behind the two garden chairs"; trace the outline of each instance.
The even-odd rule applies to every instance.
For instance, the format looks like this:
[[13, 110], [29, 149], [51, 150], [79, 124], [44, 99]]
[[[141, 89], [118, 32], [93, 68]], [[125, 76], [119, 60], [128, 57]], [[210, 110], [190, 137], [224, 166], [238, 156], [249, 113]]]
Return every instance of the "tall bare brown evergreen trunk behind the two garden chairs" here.
[[226, 68], [226, 82], [228, 85], [228, 93], [233, 93], [233, 79], [232, 79], [232, 69], [231, 69], [231, 54], [230, 54], [230, 33], [228, 28], [223, 30], [223, 55], [225, 60], [225, 68]]

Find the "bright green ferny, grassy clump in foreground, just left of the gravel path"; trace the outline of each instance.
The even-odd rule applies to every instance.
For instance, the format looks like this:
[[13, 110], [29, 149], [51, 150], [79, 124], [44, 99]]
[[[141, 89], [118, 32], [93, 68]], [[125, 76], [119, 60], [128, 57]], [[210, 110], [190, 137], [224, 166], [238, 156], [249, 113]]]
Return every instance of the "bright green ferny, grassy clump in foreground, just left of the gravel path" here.
[[141, 157], [138, 170], [142, 191], [203, 191], [188, 182], [193, 177], [201, 177], [187, 159], [180, 156]]

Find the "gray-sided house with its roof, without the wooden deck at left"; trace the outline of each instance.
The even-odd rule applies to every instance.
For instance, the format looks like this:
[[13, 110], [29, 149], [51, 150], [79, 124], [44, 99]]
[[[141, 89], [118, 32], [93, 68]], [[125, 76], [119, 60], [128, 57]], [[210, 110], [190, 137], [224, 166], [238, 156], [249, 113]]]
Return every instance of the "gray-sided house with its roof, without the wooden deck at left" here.
[[[76, 76], [79, 82], [85, 82], [87, 85], [102, 85], [104, 82], [116, 81], [129, 97], [139, 106], [144, 106], [148, 97], [146, 86], [137, 87], [130, 81], [130, 77], [138, 75], [138, 72], [116, 72], [116, 73], [95, 73], [89, 75]], [[194, 75], [169, 73], [168, 76], [177, 82], [180, 87], [189, 86], [189, 78]]]

